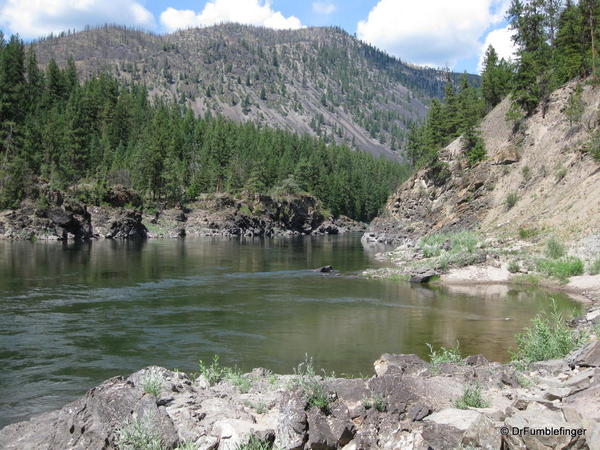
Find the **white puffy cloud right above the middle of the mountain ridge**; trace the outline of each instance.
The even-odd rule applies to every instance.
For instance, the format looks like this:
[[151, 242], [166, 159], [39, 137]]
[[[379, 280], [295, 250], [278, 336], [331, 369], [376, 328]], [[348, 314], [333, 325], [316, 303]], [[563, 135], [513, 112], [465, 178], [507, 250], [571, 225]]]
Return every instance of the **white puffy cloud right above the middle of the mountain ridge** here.
[[297, 17], [285, 17], [279, 11], [274, 11], [269, 0], [211, 0], [198, 14], [189, 9], [167, 8], [160, 15], [160, 22], [167, 31], [225, 22], [275, 29], [302, 28], [302, 23]]

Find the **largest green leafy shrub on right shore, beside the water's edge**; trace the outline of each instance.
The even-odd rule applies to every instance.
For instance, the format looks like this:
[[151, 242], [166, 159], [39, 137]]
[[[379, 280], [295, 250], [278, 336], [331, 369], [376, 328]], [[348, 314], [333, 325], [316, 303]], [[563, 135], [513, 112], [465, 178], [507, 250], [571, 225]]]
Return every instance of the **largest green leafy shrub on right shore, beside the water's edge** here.
[[512, 355], [514, 361], [527, 365], [534, 361], [559, 359], [583, 342], [583, 337], [569, 328], [554, 300], [552, 302], [550, 313], [537, 315], [531, 326], [515, 337], [517, 351]]

